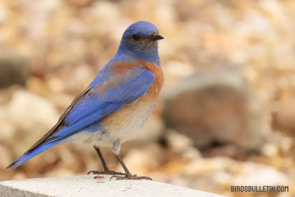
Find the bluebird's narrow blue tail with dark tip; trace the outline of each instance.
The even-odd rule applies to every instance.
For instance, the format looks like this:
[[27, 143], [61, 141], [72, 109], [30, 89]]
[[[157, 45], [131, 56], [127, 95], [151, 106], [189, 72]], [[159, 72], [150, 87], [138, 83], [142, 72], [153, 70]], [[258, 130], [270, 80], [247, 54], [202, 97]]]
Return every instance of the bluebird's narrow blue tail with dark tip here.
[[13, 162], [11, 162], [11, 164], [9, 164], [9, 166], [6, 167], [6, 169], [8, 168], [12, 168], [15, 169], [17, 167], [19, 167], [20, 165], [22, 165], [24, 162], [26, 162], [27, 160], [31, 159], [32, 157], [35, 157], [37, 154], [40, 154], [41, 152], [51, 148], [52, 146], [60, 143], [61, 141], [65, 140], [66, 138], [68, 138], [68, 136], [64, 136], [58, 139], [55, 139], [49, 143], [45, 143], [45, 144], [39, 144], [39, 146], [35, 147], [35, 149], [23, 154], [22, 156], [18, 157], [17, 159], [14, 159]]

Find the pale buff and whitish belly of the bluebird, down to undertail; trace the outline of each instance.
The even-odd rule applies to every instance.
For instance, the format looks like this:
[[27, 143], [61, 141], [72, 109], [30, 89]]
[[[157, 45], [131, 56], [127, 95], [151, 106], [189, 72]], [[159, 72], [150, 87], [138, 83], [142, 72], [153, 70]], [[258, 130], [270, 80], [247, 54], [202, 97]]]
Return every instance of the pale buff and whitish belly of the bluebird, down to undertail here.
[[96, 146], [111, 147], [116, 140], [119, 140], [120, 143], [130, 141], [136, 137], [137, 131], [150, 118], [154, 109], [155, 102], [148, 105], [135, 102], [133, 105], [127, 105], [114, 114], [105, 117], [101, 130], [96, 132], [82, 131], [67, 138], [62, 143], [80, 141]]

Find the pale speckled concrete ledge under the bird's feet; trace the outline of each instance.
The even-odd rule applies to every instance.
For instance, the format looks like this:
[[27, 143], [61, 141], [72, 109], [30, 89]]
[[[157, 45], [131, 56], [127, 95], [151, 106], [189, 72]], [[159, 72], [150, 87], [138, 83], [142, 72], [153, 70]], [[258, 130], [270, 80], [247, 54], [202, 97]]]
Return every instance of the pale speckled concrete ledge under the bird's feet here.
[[222, 197], [149, 180], [94, 179], [94, 175], [0, 182], [1, 197]]

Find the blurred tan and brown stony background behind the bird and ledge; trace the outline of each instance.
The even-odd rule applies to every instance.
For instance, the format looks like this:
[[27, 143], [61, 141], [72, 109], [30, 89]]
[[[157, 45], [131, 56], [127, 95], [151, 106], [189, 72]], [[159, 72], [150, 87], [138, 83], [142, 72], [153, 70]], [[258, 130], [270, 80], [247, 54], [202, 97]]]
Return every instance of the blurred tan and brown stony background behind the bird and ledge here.
[[85, 144], [5, 168], [58, 121], [138, 20], [165, 37], [165, 86], [121, 149], [129, 170], [226, 196], [246, 195], [231, 185], [289, 185], [247, 196], [294, 196], [294, 0], [0, 0], [0, 181], [103, 169]]

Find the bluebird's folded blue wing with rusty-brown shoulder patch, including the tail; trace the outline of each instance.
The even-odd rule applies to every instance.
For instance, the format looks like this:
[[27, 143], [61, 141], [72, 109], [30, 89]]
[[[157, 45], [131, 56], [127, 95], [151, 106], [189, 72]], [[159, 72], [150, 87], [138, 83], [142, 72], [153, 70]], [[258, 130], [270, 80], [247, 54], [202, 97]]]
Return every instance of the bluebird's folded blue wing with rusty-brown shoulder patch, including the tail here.
[[120, 74], [110, 74], [107, 69], [102, 69], [90, 86], [76, 97], [58, 123], [7, 168], [14, 169], [22, 165], [104, 116], [137, 100], [147, 92], [154, 78], [152, 72], [142, 67]]

